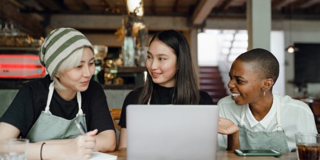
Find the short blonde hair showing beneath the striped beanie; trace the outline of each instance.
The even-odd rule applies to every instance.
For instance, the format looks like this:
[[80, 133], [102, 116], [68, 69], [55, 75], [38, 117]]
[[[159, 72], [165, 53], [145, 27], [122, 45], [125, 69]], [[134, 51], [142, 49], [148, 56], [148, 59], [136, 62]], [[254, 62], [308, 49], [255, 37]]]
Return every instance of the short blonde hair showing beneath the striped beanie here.
[[[58, 67], [56, 74], [63, 74], [65, 71], [78, 66], [82, 59], [83, 48], [75, 50], [73, 54], [66, 58]], [[59, 82], [59, 78], [54, 76], [53, 81], [55, 82], [55, 89], [65, 90], [65, 87]]]

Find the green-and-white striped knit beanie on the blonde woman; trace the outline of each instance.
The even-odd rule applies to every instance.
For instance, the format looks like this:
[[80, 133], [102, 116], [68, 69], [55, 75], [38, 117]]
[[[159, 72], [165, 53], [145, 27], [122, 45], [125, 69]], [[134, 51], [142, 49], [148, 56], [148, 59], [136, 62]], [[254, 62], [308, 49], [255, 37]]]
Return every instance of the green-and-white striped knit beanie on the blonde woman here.
[[71, 28], [53, 30], [42, 43], [39, 51], [40, 62], [53, 79], [60, 64], [74, 51], [85, 46], [94, 52], [92, 44], [79, 31]]

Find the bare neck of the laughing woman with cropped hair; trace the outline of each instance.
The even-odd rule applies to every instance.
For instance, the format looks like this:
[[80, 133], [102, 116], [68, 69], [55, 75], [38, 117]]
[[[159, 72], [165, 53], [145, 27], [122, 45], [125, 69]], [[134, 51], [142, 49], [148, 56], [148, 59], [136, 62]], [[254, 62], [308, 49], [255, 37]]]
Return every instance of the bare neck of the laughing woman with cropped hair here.
[[257, 121], [261, 121], [270, 111], [273, 103], [272, 94], [267, 94], [255, 103], [249, 103], [249, 108]]

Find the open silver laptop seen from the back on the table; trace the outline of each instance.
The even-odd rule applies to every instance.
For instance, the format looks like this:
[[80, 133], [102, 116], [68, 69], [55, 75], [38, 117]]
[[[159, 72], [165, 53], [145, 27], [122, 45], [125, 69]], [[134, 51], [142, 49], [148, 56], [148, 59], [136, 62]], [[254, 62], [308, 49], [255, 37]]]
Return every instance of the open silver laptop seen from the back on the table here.
[[216, 159], [218, 105], [128, 105], [127, 159]]

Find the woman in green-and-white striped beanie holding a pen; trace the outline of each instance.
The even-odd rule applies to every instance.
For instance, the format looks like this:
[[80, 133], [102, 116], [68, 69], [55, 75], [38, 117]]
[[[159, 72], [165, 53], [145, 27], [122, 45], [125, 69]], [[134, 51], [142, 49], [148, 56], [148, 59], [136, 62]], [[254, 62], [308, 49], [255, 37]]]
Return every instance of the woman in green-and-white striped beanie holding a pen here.
[[[106, 96], [100, 84], [90, 80], [95, 72], [93, 53], [79, 31], [52, 31], [39, 51], [49, 74], [19, 90], [0, 118], [0, 140], [29, 139], [28, 159], [87, 159], [94, 150], [115, 150]], [[80, 136], [75, 121], [88, 131], [85, 135]]]

